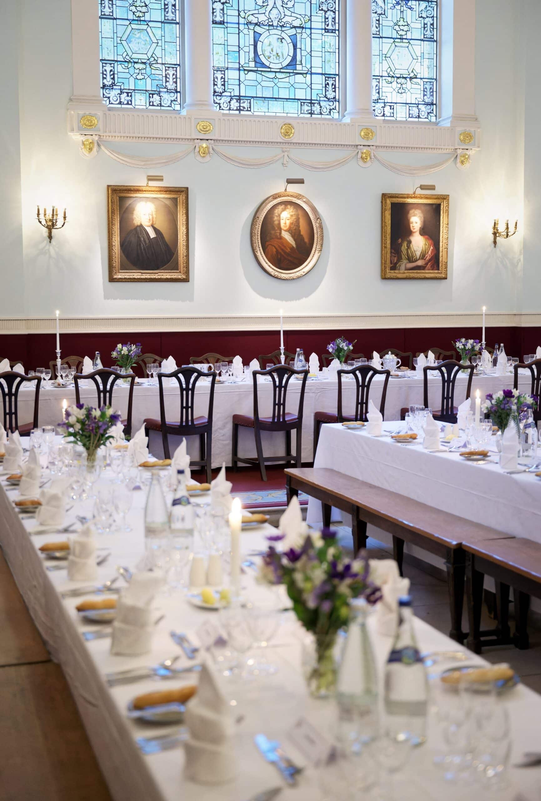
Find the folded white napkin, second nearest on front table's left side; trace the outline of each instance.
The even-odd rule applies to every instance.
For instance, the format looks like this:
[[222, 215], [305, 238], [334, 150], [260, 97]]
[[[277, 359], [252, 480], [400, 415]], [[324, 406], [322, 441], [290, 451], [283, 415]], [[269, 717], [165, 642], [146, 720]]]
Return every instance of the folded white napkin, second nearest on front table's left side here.
[[133, 575], [118, 599], [111, 654], [136, 656], [148, 653], [154, 631], [150, 606], [164, 583], [165, 579], [158, 570]]

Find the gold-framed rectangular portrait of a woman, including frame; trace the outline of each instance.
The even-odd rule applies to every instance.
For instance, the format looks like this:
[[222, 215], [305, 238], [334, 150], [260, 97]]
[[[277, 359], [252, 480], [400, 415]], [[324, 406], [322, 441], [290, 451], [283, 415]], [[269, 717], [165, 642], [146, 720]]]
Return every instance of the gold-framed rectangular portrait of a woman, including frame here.
[[447, 279], [448, 244], [449, 195], [382, 195], [382, 278]]

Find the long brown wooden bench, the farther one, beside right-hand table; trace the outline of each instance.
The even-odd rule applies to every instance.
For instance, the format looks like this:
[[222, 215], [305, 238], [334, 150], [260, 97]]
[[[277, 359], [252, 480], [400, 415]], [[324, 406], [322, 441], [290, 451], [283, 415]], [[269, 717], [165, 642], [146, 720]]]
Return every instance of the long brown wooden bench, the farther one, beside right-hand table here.
[[445, 560], [451, 631], [449, 636], [463, 642], [462, 612], [466, 576], [463, 542], [487, 542], [515, 539], [503, 531], [491, 529], [451, 514], [444, 509], [415, 501], [329, 468], [286, 469], [287, 502], [291, 495], [307, 493], [321, 501], [323, 524], [331, 525], [335, 506], [351, 514], [351, 533], [355, 553], [367, 544], [367, 524], [371, 523], [393, 537], [393, 555], [402, 574], [404, 543], [434, 553]]

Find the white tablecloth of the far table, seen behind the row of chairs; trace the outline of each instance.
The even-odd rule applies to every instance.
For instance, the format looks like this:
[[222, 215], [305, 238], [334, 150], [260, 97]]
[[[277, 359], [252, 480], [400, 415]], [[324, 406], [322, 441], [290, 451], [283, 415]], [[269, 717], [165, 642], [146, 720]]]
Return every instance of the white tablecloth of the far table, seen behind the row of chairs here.
[[[525, 371], [527, 372], [527, 371]], [[531, 385], [530, 373], [520, 376], [520, 387], [529, 390]], [[208, 409], [209, 384], [199, 380], [195, 391], [195, 416], [206, 415]], [[455, 405], [461, 403], [466, 396], [465, 376], [457, 379], [455, 392]], [[89, 382], [90, 383], [90, 382]], [[512, 376], [475, 376], [471, 397], [475, 397], [475, 390], [479, 388], [481, 399], [484, 400], [487, 392], [497, 392], [499, 389], [511, 387]], [[375, 378], [371, 387], [371, 399], [379, 407], [381, 400], [383, 379]], [[291, 380], [287, 392], [287, 411], [295, 412], [299, 407], [300, 382]], [[178, 420], [179, 392], [178, 386], [165, 386], [166, 416], [168, 421]], [[315, 412], [336, 413], [338, 396], [338, 381], [312, 380], [307, 381], [304, 397], [303, 416], [303, 462], [312, 461], [314, 414]], [[42, 388], [39, 396], [39, 425], [57, 425], [62, 420], [62, 400], [66, 398], [68, 404], [75, 402], [74, 388]], [[114, 407], [119, 408], [122, 417], [127, 412], [128, 388], [116, 384], [114, 388]], [[85, 403], [96, 402], [96, 390], [81, 389], [81, 400]], [[439, 376], [429, 380], [429, 401], [434, 409], [441, 402], [441, 382]], [[345, 414], [353, 413], [355, 404], [355, 381], [343, 381], [343, 409]], [[407, 378], [392, 378], [387, 388], [385, 405], [385, 419], [399, 420], [400, 409], [411, 404], [423, 404], [423, 379], [411, 375]], [[259, 413], [262, 416], [272, 412], [272, 384], [265, 381], [259, 390]], [[473, 406], [473, 402], [472, 402]], [[19, 421], [21, 424], [29, 423], [34, 413], [34, 390], [22, 389], [19, 393]], [[234, 414], [254, 413], [253, 384], [244, 380], [239, 384], [216, 384], [214, 391], [214, 422], [212, 429], [212, 466], [219, 467], [225, 461], [231, 464], [231, 435]], [[142, 426], [146, 417], [159, 418], [158, 387], [150, 386], [143, 381], [134, 388], [133, 405], [133, 431]], [[293, 450], [295, 452], [295, 437], [293, 437]], [[262, 433], [263, 452], [266, 456], [279, 456], [285, 453], [285, 434]], [[170, 437], [171, 453], [178, 445], [177, 437]], [[150, 434], [150, 449], [157, 457], [162, 456], [162, 439], [159, 434]], [[194, 459], [199, 458], [199, 443], [197, 437], [188, 440], [188, 453]], [[254, 457], [255, 443], [253, 430], [240, 429], [239, 456]]]

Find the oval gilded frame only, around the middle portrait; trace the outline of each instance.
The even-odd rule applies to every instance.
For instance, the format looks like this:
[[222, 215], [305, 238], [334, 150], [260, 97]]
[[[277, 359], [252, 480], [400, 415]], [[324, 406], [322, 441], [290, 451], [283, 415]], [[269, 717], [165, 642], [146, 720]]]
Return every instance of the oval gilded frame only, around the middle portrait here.
[[[299, 206], [303, 207], [304, 211], [306, 211], [307, 215], [310, 217], [314, 228], [314, 244], [312, 245], [310, 255], [307, 257], [304, 264], [301, 264], [296, 270], [279, 270], [275, 268], [266, 258], [261, 244], [261, 225], [263, 219], [265, 219], [265, 215], [273, 206], [278, 205], [278, 203], [284, 203], [286, 200], [289, 200], [291, 203], [298, 203]], [[270, 195], [263, 200], [258, 210], [255, 212], [254, 219], [252, 219], [250, 239], [252, 251], [254, 252], [259, 267], [274, 278], [293, 280], [294, 278], [306, 276], [307, 272], [310, 272], [311, 269], [315, 267], [319, 256], [321, 256], [323, 249], [323, 223], [315, 205], [304, 195], [299, 195], [298, 192], [277, 192], [275, 195]]]

